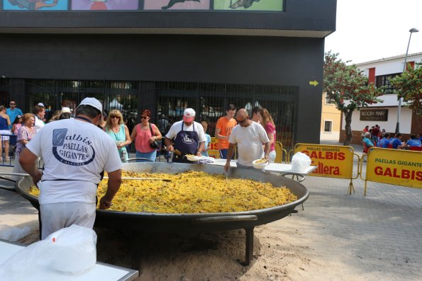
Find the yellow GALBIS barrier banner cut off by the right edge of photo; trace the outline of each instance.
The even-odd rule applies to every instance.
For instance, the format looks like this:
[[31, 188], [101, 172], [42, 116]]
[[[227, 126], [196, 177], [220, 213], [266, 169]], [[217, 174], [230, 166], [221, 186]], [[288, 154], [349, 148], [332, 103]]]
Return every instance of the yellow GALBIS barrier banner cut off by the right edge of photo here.
[[366, 180], [422, 188], [422, 153], [401, 149], [371, 148]]

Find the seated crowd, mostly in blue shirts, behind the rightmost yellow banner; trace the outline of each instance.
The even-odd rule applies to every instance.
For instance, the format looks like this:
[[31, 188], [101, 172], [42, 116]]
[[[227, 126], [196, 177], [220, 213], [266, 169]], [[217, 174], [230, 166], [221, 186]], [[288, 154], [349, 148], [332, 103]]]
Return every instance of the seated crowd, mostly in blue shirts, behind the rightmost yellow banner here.
[[411, 134], [409, 139], [402, 140], [401, 133], [390, 134], [378, 125], [366, 126], [362, 130], [363, 152], [367, 153], [370, 147], [381, 147], [385, 149], [409, 149], [422, 151], [421, 134]]

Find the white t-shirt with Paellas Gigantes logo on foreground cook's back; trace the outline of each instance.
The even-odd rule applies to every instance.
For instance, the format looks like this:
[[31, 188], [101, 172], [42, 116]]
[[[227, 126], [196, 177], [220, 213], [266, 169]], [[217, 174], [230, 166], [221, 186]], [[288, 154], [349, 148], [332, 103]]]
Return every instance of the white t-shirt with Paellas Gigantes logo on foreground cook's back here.
[[95, 203], [101, 171], [121, 169], [116, 144], [89, 122], [65, 119], [50, 122], [26, 147], [43, 158], [40, 204]]

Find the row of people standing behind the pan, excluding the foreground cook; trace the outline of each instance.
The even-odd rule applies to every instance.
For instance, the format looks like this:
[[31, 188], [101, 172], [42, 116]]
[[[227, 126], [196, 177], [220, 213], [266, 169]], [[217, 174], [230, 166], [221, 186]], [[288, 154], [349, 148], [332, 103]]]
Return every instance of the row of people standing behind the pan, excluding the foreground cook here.
[[[276, 132], [274, 121], [268, 110], [255, 107], [252, 108], [249, 115], [247, 110], [241, 108], [238, 110], [240, 114], [235, 118], [236, 110], [237, 108], [233, 104], [227, 106], [226, 115], [218, 119], [213, 134], [208, 132], [209, 122], [207, 120], [194, 121], [196, 113], [192, 108], [186, 108], [182, 120], [172, 124], [164, 116], [160, 116], [157, 125], [150, 122], [151, 111], [145, 109], [140, 114], [140, 123], [133, 127], [132, 132], [129, 132], [126, 120], [119, 110], [111, 110], [110, 113], [107, 110], [101, 110], [99, 127], [115, 142], [122, 162], [128, 160], [128, 147], [133, 142], [137, 161], [155, 161], [157, 149], [164, 147], [167, 151], [174, 152], [172, 161], [191, 163], [187, 160], [187, 154], [209, 156], [211, 135], [218, 140], [217, 148], [221, 159], [232, 159], [235, 152], [234, 147], [237, 145], [239, 166], [252, 167], [252, 160], [260, 157], [274, 162]], [[16, 107], [15, 101], [10, 102], [10, 108], [6, 109], [6, 107], [0, 106], [0, 134], [4, 135], [1, 137], [3, 145], [0, 146], [0, 149], [4, 147], [5, 159], [8, 160], [11, 155], [7, 135], [15, 134], [17, 136], [16, 148], [13, 147], [16, 151], [13, 152], [16, 154], [15, 159], [18, 159], [23, 147], [43, 129], [45, 124], [70, 118], [72, 118], [72, 112], [68, 107], [56, 110], [49, 120], [45, 120], [43, 103], [34, 105], [33, 113], [25, 115]], [[236, 137], [237, 134], [235, 134], [230, 139], [231, 132], [236, 126], [238, 126], [238, 130], [235, 132], [240, 134], [240, 137]], [[261, 129], [265, 134], [262, 134]], [[267, 143], [269, 151], [265, 151]], [[229, 157], [228, 154], [230, 154]], [[14, 166], [16, 166], [16, 173], [22, 172], [17, 160]]]

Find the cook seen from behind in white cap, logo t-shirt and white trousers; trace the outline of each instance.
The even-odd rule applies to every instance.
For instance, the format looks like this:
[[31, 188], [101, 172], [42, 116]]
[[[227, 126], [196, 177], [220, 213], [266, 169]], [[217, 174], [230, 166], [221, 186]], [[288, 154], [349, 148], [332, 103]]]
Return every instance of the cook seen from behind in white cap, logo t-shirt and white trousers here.
[[[48, 123], [21, 152], [22, 168], [40, 188], [42, 239], [72, 224], [94, 226], [96, 188], [102, 171], [109, 173], [109, 183], [99, 201], [100, 209], [111, 206], [120, 188], [121, 159], [116, 144], [96, 127], [101, 110], [98, 100], [85, 98], [74, 119]], [[39, 156], [45, 162], [43, 172], [35, 167]]]

